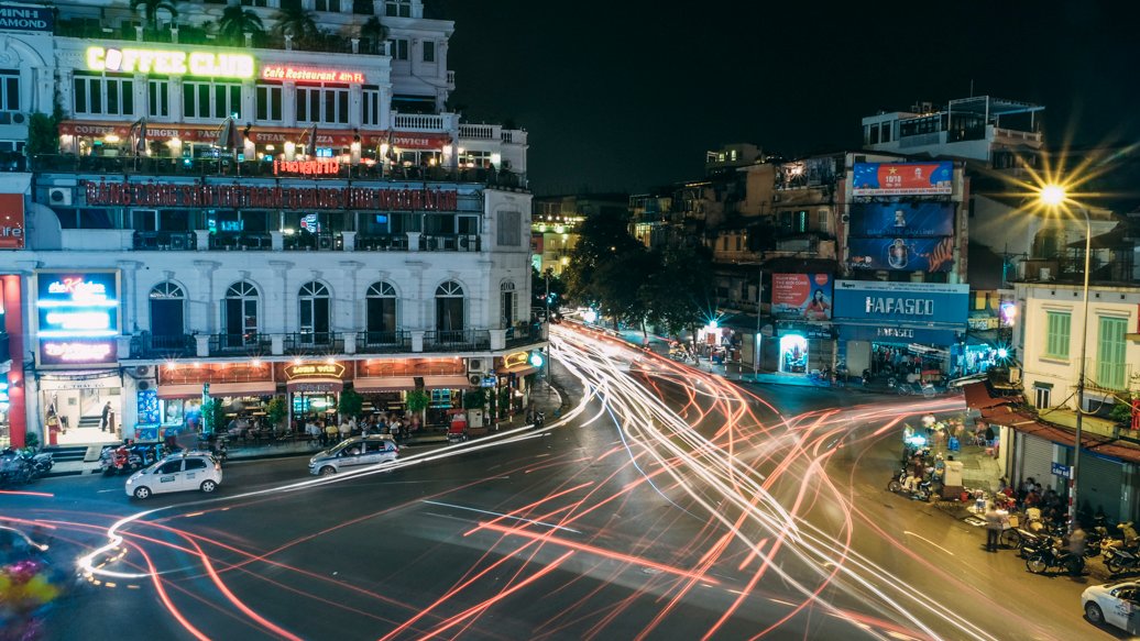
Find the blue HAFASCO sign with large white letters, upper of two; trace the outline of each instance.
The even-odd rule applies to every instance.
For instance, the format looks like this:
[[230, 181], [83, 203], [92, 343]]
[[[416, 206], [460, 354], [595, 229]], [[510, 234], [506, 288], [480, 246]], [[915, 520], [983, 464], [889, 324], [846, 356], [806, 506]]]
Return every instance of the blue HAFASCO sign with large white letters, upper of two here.
[[960, 324], [969, 317], [969, 285], [942, 282], [836, 282], [836, 318]]

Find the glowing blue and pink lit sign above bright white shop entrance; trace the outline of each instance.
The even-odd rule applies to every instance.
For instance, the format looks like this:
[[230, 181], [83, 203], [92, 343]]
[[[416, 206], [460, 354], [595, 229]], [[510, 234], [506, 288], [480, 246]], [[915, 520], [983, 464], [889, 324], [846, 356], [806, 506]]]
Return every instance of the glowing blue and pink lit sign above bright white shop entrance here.
[[117, 362], [117, 271], [38, 270], [34, 291], [40, 364]]

